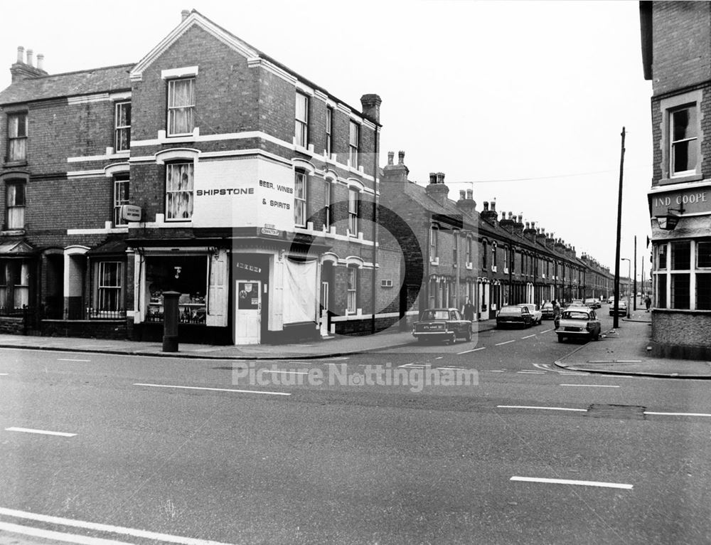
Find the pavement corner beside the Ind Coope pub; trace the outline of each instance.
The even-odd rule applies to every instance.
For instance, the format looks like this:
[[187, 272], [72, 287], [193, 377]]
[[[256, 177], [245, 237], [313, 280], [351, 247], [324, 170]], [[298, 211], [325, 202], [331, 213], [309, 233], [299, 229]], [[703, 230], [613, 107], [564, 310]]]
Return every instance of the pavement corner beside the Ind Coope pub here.
[[555, 365], [571, 371], [609, 375], [655, 376], [665, 379], [711, 379], [711, 361], [651, 357], [651, 313], [632, 311], [619, 327], [604, 333]]

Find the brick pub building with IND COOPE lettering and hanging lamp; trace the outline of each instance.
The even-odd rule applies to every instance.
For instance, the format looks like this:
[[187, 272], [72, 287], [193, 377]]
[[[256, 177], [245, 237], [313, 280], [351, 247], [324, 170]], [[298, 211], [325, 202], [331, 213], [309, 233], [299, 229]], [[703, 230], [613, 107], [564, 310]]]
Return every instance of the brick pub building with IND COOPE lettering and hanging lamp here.
[[711, 4], [640, 2], [652, 81], [653, 351], [711, 358]]

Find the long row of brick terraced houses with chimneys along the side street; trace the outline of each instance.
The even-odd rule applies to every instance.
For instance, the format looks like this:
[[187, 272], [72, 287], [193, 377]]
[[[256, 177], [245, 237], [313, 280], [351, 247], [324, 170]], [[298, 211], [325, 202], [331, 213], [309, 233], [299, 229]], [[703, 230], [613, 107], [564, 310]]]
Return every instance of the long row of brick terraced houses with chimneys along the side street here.
[[[545, 233], [523, 216], [496, 211], [485, 201], [476, 211], [473, 191], [449, 199], [444, 173], [429, 184], [408, 179], [405, 153], [388, 153], [380, 193], [383, 203], [404, 220], [414, 236], [402, 239], [405, 266], [400, 311], [416, 315], [427, 307], [461, 308], [469, 299], [476, 319], [496, 317], [502, 305], [608, 297], [611, 275], [592, 258]], [[594, 294], [594, 295], [593, 295]]]

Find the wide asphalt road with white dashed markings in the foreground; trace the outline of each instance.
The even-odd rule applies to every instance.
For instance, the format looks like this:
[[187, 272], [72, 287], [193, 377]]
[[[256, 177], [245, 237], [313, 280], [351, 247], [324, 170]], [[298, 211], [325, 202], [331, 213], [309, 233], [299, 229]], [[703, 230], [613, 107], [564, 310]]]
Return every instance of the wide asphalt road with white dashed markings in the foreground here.
[[1, 350], [0, 536], [711, 541], [708, 383], [566, 372], [550, 329], [314, 361]]

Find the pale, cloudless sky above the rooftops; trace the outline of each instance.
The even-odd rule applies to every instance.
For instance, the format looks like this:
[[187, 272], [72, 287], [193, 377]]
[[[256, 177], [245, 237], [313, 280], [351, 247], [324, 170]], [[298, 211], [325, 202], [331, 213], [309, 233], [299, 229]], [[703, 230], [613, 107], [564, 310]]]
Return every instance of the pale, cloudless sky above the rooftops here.
[[[0, 88], [17, 47], [49, 73], [137, 63], [196, 9], [348, 105], [376, 93], [380, 166], [442, 171], [449, 197], [522, 214], [614, 272], [622, 127], [621, 257], [649, 270], [651, 82], [636, 1], [124, 0], [14, 4]], [[634, 264], [631, 265], [634, 268]], [[629, 265], [621, 262], [621, 275]]]

